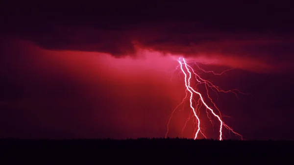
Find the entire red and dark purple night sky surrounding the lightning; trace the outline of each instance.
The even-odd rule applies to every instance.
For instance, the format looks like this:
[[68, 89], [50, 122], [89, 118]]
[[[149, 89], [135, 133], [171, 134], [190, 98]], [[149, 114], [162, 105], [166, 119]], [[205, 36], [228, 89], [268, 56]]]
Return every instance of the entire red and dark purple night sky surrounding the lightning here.
[[[173, 72], [185, 57], [208, 71], [234, 69], [201, 76], [251, 94], [212, 94], [244, 139], [294, 140], [290, 2], [3, 3], [0, 138], [164, 137], [185, 96]], [[194, 138], [192, 122], [181, 133], [189, 113], [175, 112], [170, 137]]]

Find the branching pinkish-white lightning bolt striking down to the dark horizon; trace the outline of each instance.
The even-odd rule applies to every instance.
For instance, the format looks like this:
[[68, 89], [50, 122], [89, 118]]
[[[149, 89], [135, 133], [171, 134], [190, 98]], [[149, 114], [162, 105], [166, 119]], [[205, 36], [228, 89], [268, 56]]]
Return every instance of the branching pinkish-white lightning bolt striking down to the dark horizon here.
[[[172, 111], [172, 115], [174, 114], [174, 112], [179, 108], [180, 105], [184, 105], [184, 102], [185, 100], [188, 98], [188, 94], [190, 95], [189, 97], [189, 102], [190, 102], [190, 108], [191, 108], [191, 113], [189, 115], [189, 118], [187, 118], [186, 122], [185, 122], [185, 125], [182, 129], [182, 134], [183, 134], [183, 131], [187, 125], [187, 122], [191, 119], [191, 116], [192, 114], [194, 115], [195, 117], [195, 125], [196, 125], [196, 133], [195, 133], [195, 137], [194, 139], [197, 139], [198, 137], [198, 134], [200, 133], [205, 139], [206, 136], [205, 134], [203, 133], [203, 130], [201, 129], [201, 121], [199, 119], [199, 113], [200, 113], [200, 107], [203, 105], [206, 109], [206, 115], [207, 115], [207, 118], [210, 120], [211, 124], [213, 125], [213, 120], [212, 120], [212, 116], [217, 118], [218, 121], [219, 121], [219, 124], [220, 124], [220, 129], [219, 129], [219, 140], [221, 141], [223, 139], [223, 128], [226, 128], [227, 130], [231, 131], [232, 133], [234, 133], [236, 136], [239, 136], [242, 140], [243, 140], [243, 137], [242, 135], [240, 135], [239, 133], [235, 132], [231, 127], [229, 127], [228, 125], [226, 125], [223, 120], [222, 120], [222, 115], [221, 115], [221, 111], [220, 109], [216, 106], [216, 104], [213, 102], [212, 98], [209, 96], [208, 94], [208, 88], [210, 88], [211, 90], [213, 90], [214, 92], [216, 92], [217, 96], [219, 97], [218, 95], [218, 92], [222, 92], [222, 93], [234, 93], [237, 98], [238, 95], [236, 92], [238, 93], [241, 93], [241, 94], [246, 94], [246, 93], [242, 93], [240, 92], [239, 90], [237, 89], [233, 89], [233, 90], [229, 90], [229, 91], [224, 91], [222, 90], [220, 87], [214, 85], [211, 81], [208, 81], [208, 80], [205, 80], [203, 78], [201, 78], [199, 76], [199, 74], [196, 73], [195, 70], [193, 70], [193, 68], [188, 64], [188, 62], [185, 61], [184, 58], [179, 58], [178, 60], [178, 63], [179, 63], [179, 66], [176, 67], [176, 70], [178, 68], [180, 68], [181, 72], [184, 74], [184, 80], [185, 80], [185, 87], [186, 87], [186, 95], [185, 97], [183, 98], [182, 102]], [[196, 65], [196, 67], [198, 68], [199, 71], [202, 71], [202, 72], [205, 72], [205, 73], [213, 73], [215, 75], [221, 75], [223, 73], [225, 73], [226, 71], [230, 71], [232, 69], [229, 69], [229, 70], [226, 70], [226, 71], [222, 71], [221, 73], [215, 73], [214, 71], [205, 71], [203, 69], [201, 69], [196, 62], [191, 62], [191, 63], [194, 63]], [[192, 73], [193, 75], [195, 76], [195, 79], [196, 79], [196, 86], [199, 85], [199, 84], [204, 84], [205, 85], [205, 89], [206, 89], [206, 94], [207, 94], [207, 97], [208, 99], [210, 100], [210, 102], [213, 104], [213, 107], [210, 107], [207, 105], [207, 103], [204, 101], [204, 98], [202, 96], [202, 94], [198, 91], [195, 90], [195, 88], [193, 88], [191, 86], [191, 78], [192, 78]], [[196, 101], [194, 99], [194, 94], [196, 94], [196, 96], [198, 96], [198, 100]], [[195, 105], [193, 106], [193, 103], [195, 103]], [[184, 108], [184, 107], [183, 107]], [[215, 109], [215, 110], [214, 110]], [[217, 111], [218, 113], [216, 113], [215, 111]], [[168, 137], [168, 133], [169, 133], [169, 124], [171, 122], [171, 118], [172, 118], [172, 115], [171, 117], [169, 118], [168, 120], [168, 130], [166, 132], [166, 135], [165, 137], [167, 138]]]

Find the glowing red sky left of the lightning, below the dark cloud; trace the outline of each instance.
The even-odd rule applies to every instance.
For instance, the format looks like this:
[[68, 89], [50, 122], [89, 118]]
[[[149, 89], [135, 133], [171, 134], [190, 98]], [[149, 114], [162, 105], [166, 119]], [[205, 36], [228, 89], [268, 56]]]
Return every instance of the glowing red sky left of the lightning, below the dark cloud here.
[[[23, 109], [24, 117], [35, 125], [28, 128], [75, 130], [77, 134], [93, 130], [84, 133], [87, 137], [97, 137], [100, 130], [106, 129], [116, 133], [99, 136], [160, 137], [166, 130], [167, 113], [182, 96], [176, 79], [171, 82], [177, 61], [160, 53], [146, 51], [142, 52], [145, 58], [132, 59], [96, 52], [44, 50], [24, 41], [6, 45], [11, 58], [23, 59], [19, 64], [6, 61], [14, 68], [9, 74], [13, 77], [11, 84], [21, 79], [20, 86], [30, 90], [23, 91], [22, 97], [6, 97], [1, 106]], [[15, 117], [21, 121], [25, 118]], [[122, 133], [116, 135], [118, 132]]]

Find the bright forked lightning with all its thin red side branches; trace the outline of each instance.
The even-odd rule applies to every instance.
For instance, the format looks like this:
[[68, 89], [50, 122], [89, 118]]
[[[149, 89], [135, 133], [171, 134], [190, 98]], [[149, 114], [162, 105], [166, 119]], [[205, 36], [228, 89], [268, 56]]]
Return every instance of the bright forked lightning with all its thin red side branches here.
[[[209, 118], [209, 120], [211, 121], [211, 123], [212, 123], [212, 120], [211, 120], [211, 118], [209, 117], [209, 114], [208, 114], [208, 111], [207, 111], [207, 110], [209, 110], [210, 113], [211, 113], [214, 117], [218, 118], [218, 120], [220, 121], [220, 130], [219, 130], [219, 133], [220, 133], [219, 140], [220, 140], [220, 141], [222, 140], [222, 128], [223, 128], [223, 127], [225, 127], [226, 129], [230, 130], [230, 131], [233, 132], [235, 135], [240, 136], [241, 139], [243, 140], [243, 137], [242, 137], [239, 133], [233, 131], [232, 128], [230, 128], [229, 126], [227, 126], [227, 125], [222, 121], [222, 119], [221, 119], [221, 111], [220, 111], [220, 109], [216, 106], [216, 104], [212, 101], [211, 97], [209, 96], [209, 94], [208, 94], [208, 87], [211, 88], [211, 89], [212, 89], [214, 92], [216, 92], [216, 93], [217, 93], [217, 92], [223, 92], [223, 93], [232, 92], [232, 93], [236, 94], [235, 91], [237, 91], [237, 92], [239, 92], [239, 93], [241, 93], [241, 92], [240, 92], [239, 90], [237, 90], [237, 89], [229, 90], [229, 91], [221, 90], [218, 86], [213, 85], [210, 81], [205, 80], [205, 79], [202, 79], [202, 78], [201, 78], [201, 77], [200, 77], [200, 76], [199, 76], [199, 75], [193, 70], [193, 68], [187, 64], [187, 62], [185, 61], [184, 58], [182, 58], [182, 61], [181, 61], [180, 58], [179, 58], [178, 62], [179, 62], [179, 64], [180, 64], [179, 67], [180, 67], [182, 73], [183, 73], [184, 76], [185, 76], [185, 86], [186, 86], [186, 96], [183, 98], [182, 102], [181, 102], [179, 105], [181, 105], [181, 104], [184, 103], [184, 100], [185, 100], [185, 99], [187, 98], [187, 96], [188, 96], [188, 93], [187, 93], [187, 91], [188, 91], [188, 92], [190, 93], [190, 107], [191, 107], [191, 109], [192, 109], [192, 112], [193, 112], [193, 114], [194, 114], [194, 116], [195, 116], [195, 118], [196, 118], [196, 122], [197, 122], [197, 131], [196, 131], [196, 134], [195, 134], [195, 138], [194, 138], [194, 139], [197, 138], [197, 135], [198, 135], [199, 132], [200, 132], [200, 133], [203, 135], [203, 137], [206, 139], [206, 136], [205, 136], [205, 135], [203, 134], [203, 132], [201, 131], [201, 128], [200, 128], [200, 119], [199, 119], [199, 117], [198, 117], [198, 115], [197, 115], [197, 113], [196, 113], [197, 109], [199, 109], [201, 105], [204, 105], [205, 108], [206, 108], [206, 114], [207, 114], [207, 117]], [[194, 63], [196, 64], [196, 62], [194, 62]], [[184, 66], [184, 67], [183, 67], [183, 66]], [[211, 72], [211, 73], [213, 73], [213, 74], [215, 74], [215, 75], [221, 75], [222, 73], [225, 72], [225, 71], [222, 71], [221, 73], [218, 74], [218, 73], [215, 73], [215, 72], [213, 72], [213, 71], [205, 71], [205, 70], [201, 69], [197, 64], [196, 64], [196, 66], [197, 66], [197, 68], [198, 68], [200, 71], [203, 71], [203, 72], [205, 72], [205, 73]], [[177, 67], [177, 68], [178, 68], [178, 67]], [[185, 69], [184, 69], [184, 68], [185, 68]], [[211, 103], [214, 105], [214, 108], [219, 112], [220, 115], [217, 115], [217, 114], [214, 112], [214, 110], [213, 110], [212, 108], [210, 108], [210, 107], [205, 103], [205, 101], [204, 101], [202, 95], [201, 95], [199, 92], [197, 92], [196, 90], [194, 90], [194, 89], [191, 87], [191, 77], [192, 77], [192, 73], [191, 73], [190, 70], [194, 73], [194, 75], [195, 75], [195, 79], [196, 79], [196, 81], [197, 81], [197, 84], [203, 84], [203, 83], [204, 83], [204, 85], [205, 85], [205, 89], [206, 89], [206, 91], [207, 91], [207, 97], [209, 98], [209, 100], [211, 101]], [[226, 71], [230, 71], [230, 70], [226, 70]], [[187, 73], [187, 72], [188, 72], [188, 73]], [[189, 77], [188, 77], [188, 74], [189, 74]], [[188, 78], [187, 78], [187, 77], [188, 77]], [[193, 94], [197, 94], [197, 95], [199, 96], [198, 101], [195, 101], [195, 100], [194, 100], [194, 98], [193, 98]], [[241, 93], [241, 94], [245, 94], [245, 93]], [[237, 96], [237, 94], [236, 94], [236, 96]], [[238, 97], [238, 96], [237, 96], [237, 97]], [[193, 101], [196, 103], [196, 108], [193, 107]], [[201, 104], [201, 103], [202, 103], [202, 104]], [[178, 106], [172, 111], [172, 114], [173, 114], [173, 113], [175, 112], [175, 110], [179, 107], [179, 105], [178, 105]], [[200, 106], [198, 107], [198, 105], [200, 105]], [[192, 113], [192, 112], [191, 112], [191, 113]], [[171, 118], [172, 118], [172, 116], [171, 116]], [[168, 125], [169, 125], [169, 123], [170, 123], [170, 121], [171, 121], [171, 118], [170, 118], [169, 121], [168, 121]], [[182, 129], [182, 133], [183, 133], [183, 130], [184, 130], [184, 128], [185, 128], [185, 126], [186, 126], [188, 120], [190, 120], [190, 115], [189, 115], [189, 118], [188, 118], [188, 119], [186, 120], [186, 122], [185, 122], [185, 125], [184, 125], [184, 127], [183, 127], [183, 129]], [[212, 124], [213, 124], [213, 123], [212, 123]], [[167, 133], [166, 133], [166, 138], [167, 138], [168, 132], [169, 132], [169, 127], [168, 127], [168, 131], [167, 131]]]

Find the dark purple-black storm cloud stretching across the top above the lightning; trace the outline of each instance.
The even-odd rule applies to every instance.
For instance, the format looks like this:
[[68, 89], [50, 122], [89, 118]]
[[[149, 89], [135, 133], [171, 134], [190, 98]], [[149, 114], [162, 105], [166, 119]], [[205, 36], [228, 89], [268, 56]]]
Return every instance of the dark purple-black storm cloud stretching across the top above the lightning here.
[[120, 57], [134, 55], [141, 47], [183, 55], [289, 61], [294, 53], [294, 13], [288, 6], [267, 1], [17, 6], [17, 13], [6, 14], [4, 29], [6, 34], [54, 50]]

